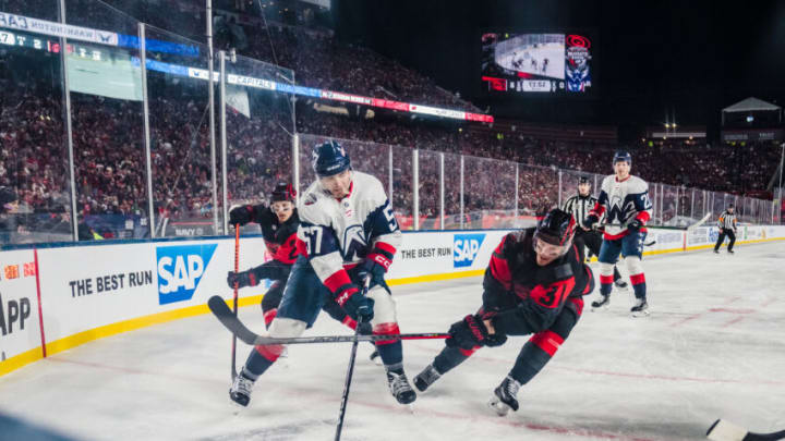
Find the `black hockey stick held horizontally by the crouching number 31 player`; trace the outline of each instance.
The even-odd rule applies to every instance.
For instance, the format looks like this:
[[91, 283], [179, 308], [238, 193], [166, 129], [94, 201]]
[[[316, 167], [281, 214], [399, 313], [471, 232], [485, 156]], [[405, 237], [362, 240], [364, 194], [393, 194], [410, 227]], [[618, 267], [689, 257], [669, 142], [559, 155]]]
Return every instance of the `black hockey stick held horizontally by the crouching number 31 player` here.
[[309, 343], [349, 343], [349, 342], [375, 342], [379, 340], [428, 340], [428, 339], [449, 339], [449, 334], [444, 333], [419, 333], [419, 334], [392, 334], [392, 335], [317, 335], [317, 336], [294, 336], [277, 339], [273, 336], [259, 335], [243, 324], [240, 319], [234, 316], [227, 306], [226, 302], [217, 295], [207, 301], [207, 306], [213, 315], [229, 330], [237, 335], [243, 343], [252, 346], [259, 344], [309, 344]]

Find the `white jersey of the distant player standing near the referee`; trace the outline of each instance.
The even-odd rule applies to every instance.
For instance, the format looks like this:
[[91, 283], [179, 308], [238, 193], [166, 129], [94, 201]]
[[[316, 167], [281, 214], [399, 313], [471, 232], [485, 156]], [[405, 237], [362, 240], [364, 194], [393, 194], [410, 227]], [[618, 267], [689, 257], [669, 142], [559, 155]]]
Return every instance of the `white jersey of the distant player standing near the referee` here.
[[632, 175], [618, 181], [612, 174], [603, 180], [600, 198], [592, 212], [600, 218], [605, 215], [605, 238], [614, 240], [627, 235], [627, 224], [633, 219], [639, 219], [643, 224], [649, 222], [651, 210], [649, 184], [645, 181]]

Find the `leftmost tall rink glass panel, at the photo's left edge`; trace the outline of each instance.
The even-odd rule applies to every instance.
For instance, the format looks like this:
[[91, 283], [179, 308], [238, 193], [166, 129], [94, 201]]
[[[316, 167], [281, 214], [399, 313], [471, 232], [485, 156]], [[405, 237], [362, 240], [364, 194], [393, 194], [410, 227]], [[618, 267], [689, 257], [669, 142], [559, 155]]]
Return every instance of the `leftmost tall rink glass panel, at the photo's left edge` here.
[[[56, 0], [0, 0], [0, 11], [59, 21]], [[62, 40], [1, 30], [0, 245], [71, 241]], [[41, 49], [21, 46], [21, 39], [36, 39]]]

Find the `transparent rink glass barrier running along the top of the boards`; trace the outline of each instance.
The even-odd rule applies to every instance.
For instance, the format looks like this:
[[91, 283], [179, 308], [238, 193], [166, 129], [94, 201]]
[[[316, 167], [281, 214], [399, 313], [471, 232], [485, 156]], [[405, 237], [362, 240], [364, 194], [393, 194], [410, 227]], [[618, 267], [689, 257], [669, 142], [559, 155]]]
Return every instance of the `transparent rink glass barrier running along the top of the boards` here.
[[[99, 1], [36, 4], [0, 2], [2, 12], [107, 32], [3, 25], [0, 243], [222, 234], [228, 207], [264, 201], [279, 181], [313, 181], [311, 148], [325, 138], [295, 134], [294, 72], [218, 52], [210, 118], [205, 45]], [[595, 191], [603, 179], [438, 145], [341, 143], [355, 170], [383, 182], [406, 230], [527, 225], [580, 176]], [[656, 183], [650, 195], [657, 225], [715, 219], [730, 203], [742, 222], [782, 219], [778, 201]]]

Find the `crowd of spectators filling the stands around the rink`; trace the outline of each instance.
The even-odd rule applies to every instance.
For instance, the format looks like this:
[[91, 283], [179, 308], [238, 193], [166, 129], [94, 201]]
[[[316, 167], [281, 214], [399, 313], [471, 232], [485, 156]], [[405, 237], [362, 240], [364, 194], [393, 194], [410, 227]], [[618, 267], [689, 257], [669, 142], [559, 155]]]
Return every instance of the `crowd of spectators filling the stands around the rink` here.
[[[31, 14], [29, 5], [21, 0], [0, 3], [0, 10], [7, 12], [55, 20], [43, 12]], [[73, 9], [70, 16], [75, 17], [74, 24], [100, 27], [95, 23], [101, 23], [120, 26], [123, 32], [133, 30], [132, 22], [118, 19], [118, 12], [111, 8], [95, 7], [93, 0], [68, 3]], [[424, 75], [369, 49], [339, 44], [330, 33], [279, 23], [267, 28], [246, 27], [245, 33], [254, 41], [249, 45], [247, 56], [277, 60], [280, 65], [293, 69], [298, 84], [476, 111]], [[1, 50], [3, 56], [10, 53], [10, 49]], [[70, 210], [58, 58], [38, 57], [33, 49], [13, 50], [28, 53], [22, 58], [7, 57], [5, 69], [13, 71], [15, 66], [10, 64], [14, 63], [34, 63], [43, 69], [27, 71], [51, 73], [50, 77], [39, 78], [19, 74], [0, 77], [0, 82], [13, 82], [13, 87], [4, 88], [0, 108], [0, 186], [14, 191], [14, 213], [43, 213], [48, 216], [46, 222], [51, 223], [55, 219], [63, 220], [63, 213]], [[152, 176], [158, 218], [213, 216], [207, 94], [198, 83], [149, 73]], [[291, 175], [292, 109], [286, 98], [265, 94], [269, 95], [249, 93], [250, 117], [240, 111], [228, 114], [230, 204], [258, 199], [276, 182]], [[144, 217], [147, 187], [141, 102], [78, 93], [71, 97], [78, 217]], [[557, 168], [607, 174], [609, 158], [618, 148], [602, 143], [497, 133], [487, 126], [412, 121], [400, 115], [337, 115], [315, 111], [313, 103], [300, 100], [297, 105], [297, 132], [316, 135], [303, 136], [302, 145], [307, 147], [325, 136], [348, 139], [355, 167], [376, 174], [385, 184], [389, 181], [391, 152], [392, 203], [403, 218], [411, 216], [413, 205], [412, 148], [421, 151], [419, 203], [427, 221], [437, 219], [439, 210], [439, 162], [435, 152], [445, 154], [445, 213], [455, 216], [461, 205], [460, 155], [464, 156], [464, 212], [511, 210], [516, 206], [516, 168], [509, 162], [515, 161], [522, 164], [518, 169], [518, 208], [533, 213], [558, 201]], [[367, 109], [357, 110], [367, 115]], [[762, 143], [632, 147], [633, 173], [649, 182], [733, 193], [765, 189], [778, 158], [777, 149]], [[304, 164], [301, 181], [305, 184], [312, 179], [305, 167], [310, 162], [307, 150], [303, 149], [301, 155], [300, 163]], [[217, 181], [220, 187], [220, 176]]]

